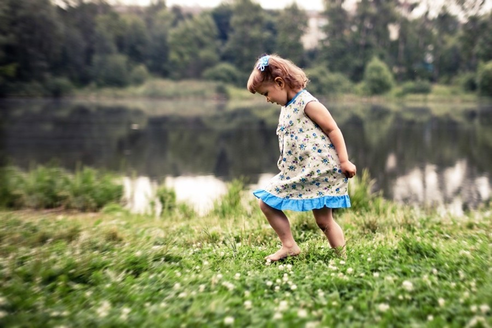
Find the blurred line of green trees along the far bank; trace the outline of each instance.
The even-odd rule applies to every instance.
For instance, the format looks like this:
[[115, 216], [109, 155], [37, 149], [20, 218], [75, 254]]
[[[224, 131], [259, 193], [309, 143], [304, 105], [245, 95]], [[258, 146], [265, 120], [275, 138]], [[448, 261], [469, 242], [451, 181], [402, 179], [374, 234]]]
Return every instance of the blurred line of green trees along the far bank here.
[[393, 80], [492, 92], [492, 13], [484, 1], [451, 0], [453, 11], [415, 17], [421, 2], [361, 0], [348, 11], [343, 0], [324, 0], [324, 37], [304, 49], [309, 15], [296, 4], [265, 10], [233, 0], [190, 13], [164, 0], [126, 8], [105, 0], [1, 0], [0, 96], [56, 97], [149, 76], [244, 86], [264, 53], [310, 70], [320, 92], [366, 81], [368, 93], [381, 93]]

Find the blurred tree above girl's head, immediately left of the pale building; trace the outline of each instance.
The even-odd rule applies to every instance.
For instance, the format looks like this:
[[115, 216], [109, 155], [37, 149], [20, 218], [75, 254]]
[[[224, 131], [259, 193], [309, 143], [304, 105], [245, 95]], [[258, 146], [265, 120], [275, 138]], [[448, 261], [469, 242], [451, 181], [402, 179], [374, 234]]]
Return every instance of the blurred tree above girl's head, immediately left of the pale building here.
[[304, 48], [301, 41], [308, 27], [308, 16], [295, 3], [280, 12], [276, 21], [277, 53], [301, 65]]

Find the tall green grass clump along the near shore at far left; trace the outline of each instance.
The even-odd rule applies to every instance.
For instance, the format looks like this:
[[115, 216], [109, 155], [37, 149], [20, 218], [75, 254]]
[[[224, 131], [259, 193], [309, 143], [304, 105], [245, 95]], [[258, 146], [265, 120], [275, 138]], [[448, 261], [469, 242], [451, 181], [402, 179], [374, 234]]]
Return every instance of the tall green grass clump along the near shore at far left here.
[[84, 167], [70, 174], [58, 167], [37, 166], [27, 172], [2, 169], [5, 177], [0, 206], [8, 208], [57, 208], [96, 211], [118, 202], [121, 183], [112, 174]]

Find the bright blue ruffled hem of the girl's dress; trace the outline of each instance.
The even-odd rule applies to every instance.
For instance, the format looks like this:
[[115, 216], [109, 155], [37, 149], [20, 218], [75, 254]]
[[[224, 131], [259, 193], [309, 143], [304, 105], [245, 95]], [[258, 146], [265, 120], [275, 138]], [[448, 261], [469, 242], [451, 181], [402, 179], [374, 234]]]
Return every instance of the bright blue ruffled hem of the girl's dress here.
[[329, 208], [345, 208], [350, 207], [349, 195], [343, 196], [323, 196], [320, 198], [312, 199], [284, 199], [270, 194], [263, 189], [255, 190], [253, 192], [257, 198], [261, 199], [267, 205], [270, 205], [277, 210], [291, 210], [291, 211], [311, 211], [317, 208], [329, 207]]

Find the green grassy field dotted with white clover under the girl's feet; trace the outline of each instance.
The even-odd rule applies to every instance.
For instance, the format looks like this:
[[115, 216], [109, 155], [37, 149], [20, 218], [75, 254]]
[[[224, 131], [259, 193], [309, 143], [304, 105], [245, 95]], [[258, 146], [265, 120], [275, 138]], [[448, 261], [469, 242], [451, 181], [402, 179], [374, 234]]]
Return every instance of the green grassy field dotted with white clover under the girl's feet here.
[[288, 212], [302, 253], [275, 263], [275, 233], [239, 188], [202, 217], [4, 210], [0, 325], [490, 326], [489, 208], [455, 218], [363, 189], [335, 213], [346, 258], [311, 213]]

